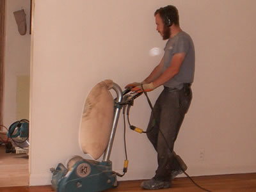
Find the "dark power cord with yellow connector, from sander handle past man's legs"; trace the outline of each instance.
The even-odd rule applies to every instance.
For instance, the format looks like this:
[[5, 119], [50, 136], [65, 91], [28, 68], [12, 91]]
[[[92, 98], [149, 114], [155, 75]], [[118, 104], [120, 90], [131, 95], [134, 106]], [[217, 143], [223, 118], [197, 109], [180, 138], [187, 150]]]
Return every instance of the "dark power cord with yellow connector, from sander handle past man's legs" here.
[[[142, 85], [142, 84], [141, 84], [141, 88], [142, 88], [142, 90], [143, 90], [143, 92], [144, 92], [144, 89], [143, 89], [143, 85]], [[145, 94], [145, 96], [147, 97], [148, 104], [149, 104], [149, 106], [150, 106], [150, 109], [152, 110], [153, 118], [154, 118], [154, 120], [157, 120], [157, 119], [155, 118], [155, 116], [154, 116], [154, 109], [153, 109], [152, 103], [151, 103], [151, 101], [150, 101], [150, 99], [149, 99], [149, 97], [148, 97], [148, 95], [147, 95], [147, 92], [144, 92], [144, 94]], [[128, 111], [128, 109], [127, 109], [127, 118], [129, 119], [128, 116], [129, 116], [129, 111]], [[152, 128], [151, 128], [150, 130], [148, 130], [148, 131], [142, 131], [142, 129], [140, 129], [140, 128], [138, 128], [138, 127], [134, 127], [133, 125], [131, 125], [130, 122], [129, 122], [129, 125], [130, 125], [131, 129], [134, 130], [134, 131], [136, 131], [136, 129], [137, 129], [136, 132], [147, 133], [147, 132], [152, 131]], [[140, 131], [138, 131], [138, 130], [140, 130]], [[172, 150], [171, 150], [170, 146], [168, 145], [168, 141], [167, 141], [166, 138], [164, 137], [164, 134], [163, 134], [163, 132], [161, 131], [161, 129], [159, 129], [159, 132], [162, 134], [162, 136], [163, 136], [163, 138], [164, 138], [164, 141], [165, 141], [166, 145], [168, 146], [168, 149], [169, 149], [170, 152], [172, 153]], [[176, 160], [176, 161], [177, 161], [177, 160]], [[201, 186], [199, 186], [198, 184], [196, 184], [196, 182], [195, 182], [195, 181], [188, 175], [188, 173], [186, 173], [185, 170], [182, 168], [182, 166], [180, 165], [179, 161], [177, 161], [177, 163], [179, 164], [180, 169], [182, 170], [182, 172], [191, 180], [191, 182], [193, 182], [193, 184], [195, 184], [195, 186], [197, 186], [198, 188], [200, 188], [200, 189], [202, 189], [202, 190], [204, 190], [204, 191], [211, 192], [209, 189], [202, 188]]]

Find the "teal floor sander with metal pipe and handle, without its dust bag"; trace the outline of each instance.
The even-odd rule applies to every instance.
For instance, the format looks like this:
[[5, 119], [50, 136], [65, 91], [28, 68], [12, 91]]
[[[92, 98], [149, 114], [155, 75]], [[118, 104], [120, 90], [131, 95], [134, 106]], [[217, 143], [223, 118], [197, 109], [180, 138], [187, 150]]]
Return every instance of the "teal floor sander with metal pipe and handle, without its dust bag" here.
[[[67, 168], [59, 163], [57, 168], [51, 168], [52, 187], [58, 192], [97, 192], [109, 188], [115, 188], [117, 184], [116, 175], [113, 172], [112, 162], [109, 160], [113, 140], [115, 138], [116, 126], [120, 110], [132, 102], [140, 93], [129, 93], [130, 90], [122, 92], [118, 84], [113, 83], [113, 90], [116, 92], [114, 99], [113, 126], [109, 137], [108, 145], [104, 150], [102, 161], [84, 159], [80, 156], [74, 156], [67, 162]], [[129, 93], [129, 94], [127, 94]], [[127, 94], [127, 95], [125, 95]], [[133, 95], [132, 95], [133, 94]], [[123, 96], [126, 97], [123, 97]], [[127, 171], [128, 161], [124, 164], [124, 173]]]

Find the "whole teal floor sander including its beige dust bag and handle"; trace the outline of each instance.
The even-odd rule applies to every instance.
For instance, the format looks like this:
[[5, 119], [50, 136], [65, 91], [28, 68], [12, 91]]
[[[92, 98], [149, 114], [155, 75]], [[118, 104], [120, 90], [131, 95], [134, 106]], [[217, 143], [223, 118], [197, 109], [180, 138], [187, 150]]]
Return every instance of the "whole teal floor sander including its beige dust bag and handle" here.
[[[108, 90], [107, 94], [111, 94], [109, 90], [113, 89], [116, 92], [116, 98], [113, 99], [111, 96], [111, 100], [106, 100], [106, 97], [102, 96], [104, 95], [102, 93], [102, 90]], [[92, 93], [92, 94], [91, 94]], [[105, 104], [102, 104], [101, 106], [100, 101], [97, 100], [97, 97], [102, 96], [103, 102]], [[97, 84], [92, 91], [89, 93], [85, 105], [84, 105], [84, 111], [82, 116], [82, 123], [81, 127], [83, 128], [83, 125], [86, 123], [83, 122], [83, 119], [88, 119], [89, 123], [87, 122], [86, 127], [84, 127], [85, 132], [81, 130], [80, 128], [80, 146], [82, 145], [82, 149], [84, 153], [88, 153], [90, 155], [93, 154], [93, 150], [95, 148], [100, 148], [98, 146], [99, 143], [95, 143], [95, 140], [97, 141], [97, 136], [93, 136], [92, 134], [89, 134], [92, 129], [95, 129], [96, 127], [93, 127], [93, 125], [97, 123], [100, 126], [102, 124], [105, 125], [104, 118], [107, 122], [111, 122], [111, 129], [109, 131], [109, 136], [107, 137], [108, 140], [106, 142], [106, 146], [103, 145], [103, 152], [98, 152], [98, 154], [94, 154], [94, 159], [97, 159], [100, 157], [103, 153], [104, 156], [102, 158], [102, 161], [96, 161], [92, 159], [84, 159], [81, 156], [74, 156], [71, 157], [70, 160], [67, 161], [67, 167], [65, 167], [62, 163], [59, 163], [58, 166], [55, 168], [51, 168], [52, 172], [52, 187], [58, 191], [58, 192], [96, 192], [96, 191], [104, 191], [109, 188], [115, 188], [117, 184], [116, 176], [122, 176], [120, 173], [113, 172], [112, 170], [112, 162], [109, 160], [110, 154], [111, 154], [111, 148], [113, 147], [113, 141], [115, 138], [115, 132], [116, 132], [116, 126], [118, 124], [118, 118], [120, 116], [120, 111], [122, 108], [125, 108], [127, 104], [131, 106], [133, 104], [133, 100], [136, 99], [138, 96], [140, 96], [141, 93], [134, 93], [131, 92], [131, 90], [127, 89], [122, 92], [122, 89], [118, 84], [113, 83], [111, 80], [105, 80]], [[90, 97], [90, 98], [89, 98]], [[96, 98], [96, 100], [95, 100]], [[99, 98], [98, 98], [99, 99]], [[105, 100], [104, 100], [105, 99]], [[113, 103], [111, 103], [111, 101]], [[94, 103], [93, 103], [94, 102]], [[109, 108], [109, 111], [106, 111], [105, 114], [101, 114], [102, 111], [106, 109], [106, 104], [111, 105]], [[98, 105], [98, 106], [97, 106]], [[93, 112], [93, 109], [98, 108], [98, 111]], [[96, 118], [93, 120], [93, 122], [90, 122], [89, 115], [93, 115], [95, 113]], [[89, 115], [88, 115], [89, 114]], [[109, 116], [112, 117], [112, 119], [109, 121]], [[95, 117], [94, 116], [94, 117]], [[106, 118], [106, 116], [108, 118]], [[91, 129], [91, 130], [88, 130]], [[102, 129], [102, 131], [97, 131], [95, 134], [100, 134], [100, 132], [104, 132], [105, 128]], [[88, 133], [88, 134], [85, 134]], [[81, 137], [82, 134], [82, 137]], [[99, 135], [100, 136], [100, 135]], [[103, 137], [102, 137], [103, 138]], [[92, 140], [91, 142], [88, 142], [88, 140]], [[99, 139], [98, 139], [99, 140]], [[100, 139], [101, 140], [101, 139]], [[81, 141], [87, 142], [86, 147], [85, 144]], [[84, 149], [86, 148], [86, 149]], [[92, 152], [90, 152], [89, 149], [92, 149]], [[128, 161], [125, 160], [124, 163], [124, 173], [127, 171]]]

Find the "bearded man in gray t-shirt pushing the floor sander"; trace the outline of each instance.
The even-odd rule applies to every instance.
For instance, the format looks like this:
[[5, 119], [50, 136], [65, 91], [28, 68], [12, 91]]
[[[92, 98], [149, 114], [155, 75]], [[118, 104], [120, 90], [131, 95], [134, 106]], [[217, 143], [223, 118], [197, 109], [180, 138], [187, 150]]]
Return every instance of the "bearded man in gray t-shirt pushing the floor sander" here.
[[141, 183], [144, 189], [170, 188], [171, 180], [187, 169], [173, 151], [173, 146], [191, 103], [190, 86], [195, 72], [193, 41], [179, 26], [177, 8], [172, 5], [159, 8], [154, 16], [156, 30], [163, 40], [168, 40], [164, 56], [143, 82], [125, 86], [136, 92], [150, 92], [158, 86], [164, 86], [147, 128], [148, 139], [157, 151], [158, 167], [152, 179]]

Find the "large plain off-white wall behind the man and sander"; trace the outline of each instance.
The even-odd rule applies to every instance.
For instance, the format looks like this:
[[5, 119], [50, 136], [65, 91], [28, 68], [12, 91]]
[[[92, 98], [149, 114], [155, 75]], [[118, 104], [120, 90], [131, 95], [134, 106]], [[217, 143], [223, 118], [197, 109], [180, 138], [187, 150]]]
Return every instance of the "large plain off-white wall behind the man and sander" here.
[[[196, 48], [193, 102], [176, 152], [190, 175], [256, 171], [256, 1], [45, 0], [35, 3], [31, 185], [50, 184], [49, 168], [73, 155], [88, 157], [78, 145], [84, 99], [99, 81], [113, 79], [124, 87], [151, 72], [161, 56], [148, 51], [165, 44], [153, 14], [170, 3]], [[160, 91], [149, 93], [152, 102]], [[145, 129], [149, 114], [145, 98], [136, 99], [131, 122]], [[124, 162], [122, 124], [120, 119], [111, 154], [118, 172]], [[123, 179], [152, 177], [156, 152], [147, 137], [127, 131], [127, 146], [130, 163]]]

